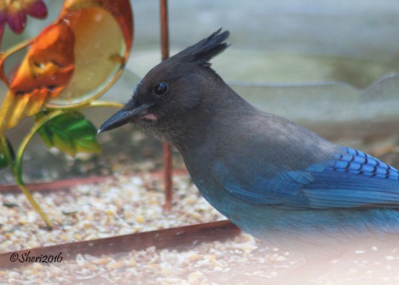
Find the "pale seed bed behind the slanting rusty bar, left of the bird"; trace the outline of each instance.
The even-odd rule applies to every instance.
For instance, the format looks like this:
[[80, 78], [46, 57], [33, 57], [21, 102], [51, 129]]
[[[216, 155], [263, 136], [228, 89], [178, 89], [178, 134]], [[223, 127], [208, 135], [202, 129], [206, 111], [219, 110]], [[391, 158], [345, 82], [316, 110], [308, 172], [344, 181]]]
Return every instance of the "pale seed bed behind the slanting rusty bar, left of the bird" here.
[[114, 237], [225, 219], [199, 195], [190, 177], [175, 177], [171, 212], [164, 212], [160, 180], [150, 175], [116, 177], [100, 185], [34, 192], [33, 197], [56, 224], [48, 231], [24, 195], [2, 194], [0, 252], [46, 247], [60, 242]]

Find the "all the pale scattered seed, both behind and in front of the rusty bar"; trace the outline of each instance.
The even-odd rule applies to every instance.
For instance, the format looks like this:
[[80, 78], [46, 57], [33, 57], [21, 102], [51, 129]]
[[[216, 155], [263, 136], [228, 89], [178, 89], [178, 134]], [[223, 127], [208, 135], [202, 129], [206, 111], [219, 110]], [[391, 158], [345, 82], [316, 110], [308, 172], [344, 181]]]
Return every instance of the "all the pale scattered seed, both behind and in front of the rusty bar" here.
[[[0, 206], [1, 252], [224, 219], [188, 175], [175, 177], [174, 204], [167, 213], [162, 210], [162, 185], [150, 175], [119, 176], [100, 185], [34, 196], [56, 229], [43, 227], [24, 195], [6, 194]], [[240, 234], [181, 251], [149, 247], [0, 269], [0, 284], [395, 284], [398, 251], [399, 243], [357, 244], [337, 258], [309, 260]]]

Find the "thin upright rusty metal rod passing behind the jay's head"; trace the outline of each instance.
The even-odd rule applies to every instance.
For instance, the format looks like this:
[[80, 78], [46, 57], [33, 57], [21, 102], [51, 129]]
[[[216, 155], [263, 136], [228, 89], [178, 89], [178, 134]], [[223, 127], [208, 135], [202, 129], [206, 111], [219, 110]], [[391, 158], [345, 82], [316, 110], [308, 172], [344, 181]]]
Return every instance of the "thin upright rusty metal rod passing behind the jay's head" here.
[[[162, 61], [169, 58], [169, 27], [167, 20], [167, 0], [160, 0], [161, 17], [161, 49]], [[167, 142], [163, 143], [163, 163], [165, 181], [165, 211], [170, 211], [172, 206], [172, 150]]]

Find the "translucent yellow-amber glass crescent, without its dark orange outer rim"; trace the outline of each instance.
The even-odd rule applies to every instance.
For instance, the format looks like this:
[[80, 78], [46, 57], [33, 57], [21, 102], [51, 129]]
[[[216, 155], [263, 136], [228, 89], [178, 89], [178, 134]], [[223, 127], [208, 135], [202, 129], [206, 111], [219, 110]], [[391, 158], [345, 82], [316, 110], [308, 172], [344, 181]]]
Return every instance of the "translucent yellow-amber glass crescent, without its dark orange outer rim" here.
[[67, 88], [46, 105], [63, 108], [83, 105], [102, 95], [125, 63], [126, 46], [118, 22], [94, 7], [64, 16], [75, 33], [75, 71]]

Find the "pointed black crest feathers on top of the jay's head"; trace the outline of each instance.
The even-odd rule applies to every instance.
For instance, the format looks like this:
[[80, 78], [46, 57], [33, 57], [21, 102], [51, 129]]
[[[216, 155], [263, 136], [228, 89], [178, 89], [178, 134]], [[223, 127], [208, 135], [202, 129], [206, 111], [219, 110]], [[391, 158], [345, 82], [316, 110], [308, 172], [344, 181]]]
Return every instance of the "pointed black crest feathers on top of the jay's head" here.
[[195, 43], [194, 46], [189, 46], [185, 50], [180, 51], [180, 53], [177, 53], [173, 57], [182, 58], [199, 66], [210, 66], [209, 60], [229, 46], [227, 43], [224, 43], [224, 40], [229, 37], [230, 32], [224, 31], [220, 33], [221, 31], [222, 28], [219, 28], [212, 35]]

